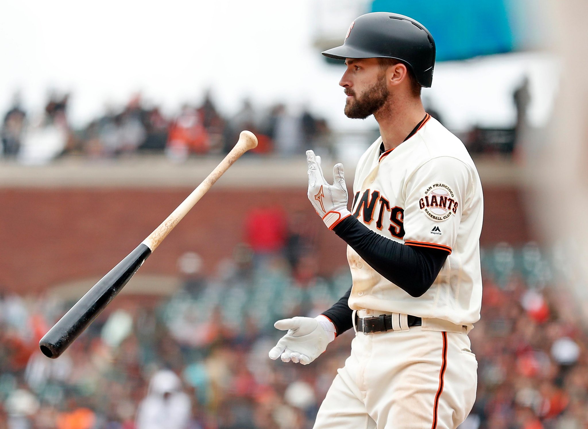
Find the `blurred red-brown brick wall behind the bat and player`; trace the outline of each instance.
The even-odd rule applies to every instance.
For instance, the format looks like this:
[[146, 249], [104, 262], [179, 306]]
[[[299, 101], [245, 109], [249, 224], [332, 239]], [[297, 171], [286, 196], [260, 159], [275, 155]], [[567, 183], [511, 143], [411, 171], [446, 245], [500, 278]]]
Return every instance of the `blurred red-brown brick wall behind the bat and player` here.
[[[191, 192], [189, 188], [0, 189], [0, 290], [22, 294], [62, 282], [101, 277], [139, 244]], [[531, 234], [522, 191], [486, 187], [482, 244], [521, 244]], [[298, 212], [318, 247], [320, 270], [346, 264], [345, 245], [322, 225], [306, 194], [296, 189], [213, 189], [189, 212], [141, 268], [175, 274], [186, 251], [214, 272], [243, 240], [243, 218], [258, 205]]]

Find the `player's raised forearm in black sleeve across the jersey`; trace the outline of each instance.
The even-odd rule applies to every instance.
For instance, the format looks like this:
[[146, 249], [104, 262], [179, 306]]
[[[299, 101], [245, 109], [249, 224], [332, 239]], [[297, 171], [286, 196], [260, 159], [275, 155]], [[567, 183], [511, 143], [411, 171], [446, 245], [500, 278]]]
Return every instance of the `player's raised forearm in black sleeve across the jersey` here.
[[370, 267], [412, 297], [424, 294], [447, 258], [443, 250], [413, 247], [376, 234], [348, 217], [333, 229]]

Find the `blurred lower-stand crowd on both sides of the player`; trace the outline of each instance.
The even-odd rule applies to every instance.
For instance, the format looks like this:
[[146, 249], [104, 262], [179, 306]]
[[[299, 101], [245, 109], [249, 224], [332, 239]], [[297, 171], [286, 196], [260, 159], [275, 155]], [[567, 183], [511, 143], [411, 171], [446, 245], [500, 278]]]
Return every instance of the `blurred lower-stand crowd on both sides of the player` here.
[[[37, 343], [71, 302], [0, 298], [0, 428], [312, 427], [353, 332], [302, 366], [269, 360], [282, 334], [272, 324], [319, 314], [348, 288], [348, 270], [322, 278], [245, 244], [214, 275], [193, 253], [179, 267], [181, 289], [156, 305], [117, 298], [56, 360]], [[533, 244], [487, 249], [483, 267], [470, 333], [477, 400], [462, 429], [588, 427], [588, 335], [569, 293]]]

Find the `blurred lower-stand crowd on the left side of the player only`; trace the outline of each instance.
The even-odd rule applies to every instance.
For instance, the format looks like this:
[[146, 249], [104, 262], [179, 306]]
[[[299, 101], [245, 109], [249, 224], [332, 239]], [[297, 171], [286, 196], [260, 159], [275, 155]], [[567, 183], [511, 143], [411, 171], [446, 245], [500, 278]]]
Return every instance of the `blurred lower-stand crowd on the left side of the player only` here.
[[197, 254], [182, 255], [180, 290], [156, 305], [121, 295], [56, 360], [37, 343], [72, 302], [1, 297], [0, 428], [308, 427], [350, 335], [302, 368], [269, 359], [273, 322], [318, 314], [350, 278], [318, 277], [289, 241], [239, 245], [213, 275]]

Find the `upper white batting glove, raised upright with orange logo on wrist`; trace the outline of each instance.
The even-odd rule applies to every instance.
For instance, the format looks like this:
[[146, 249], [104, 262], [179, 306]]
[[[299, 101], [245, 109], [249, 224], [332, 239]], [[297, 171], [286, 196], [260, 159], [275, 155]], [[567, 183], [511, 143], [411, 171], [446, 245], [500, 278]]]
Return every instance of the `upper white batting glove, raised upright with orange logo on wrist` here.
[[333, 184], [329, 185], [320, 167], [320, 157], [315, 152], [306, 151], [308, 161], [308, 199], [312, 202], [316, 212], [332, 230], [340, 221], [351, 215], [347, 208], [348, 195], [343, 164], [333, 167]]

